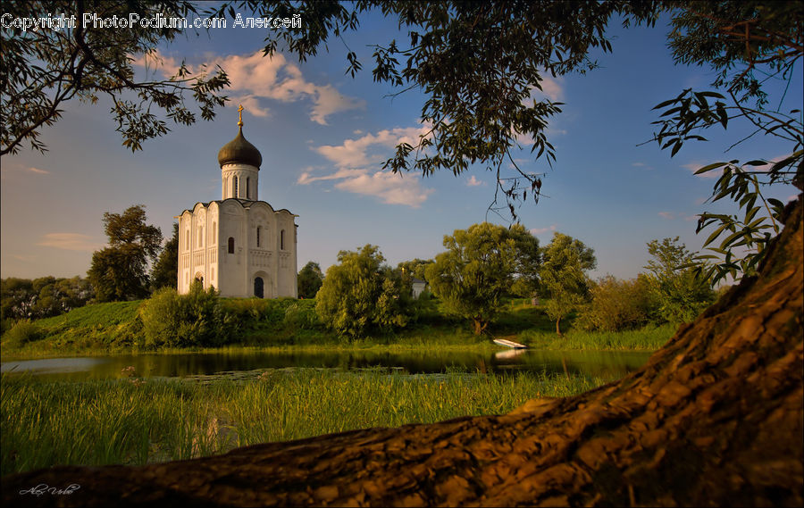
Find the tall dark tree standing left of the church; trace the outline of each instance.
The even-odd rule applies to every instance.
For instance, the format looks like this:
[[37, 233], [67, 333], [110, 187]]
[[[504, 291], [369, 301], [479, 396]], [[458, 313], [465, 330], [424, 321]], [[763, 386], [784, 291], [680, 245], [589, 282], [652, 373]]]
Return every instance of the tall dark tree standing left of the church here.
[[146, 224], [145, 206], [104, 213], [109, 246], [92, 254], [87, 272], [98, 302], [135, 300], [148, 295], [147, 263], [155, 261], [162, 231]]

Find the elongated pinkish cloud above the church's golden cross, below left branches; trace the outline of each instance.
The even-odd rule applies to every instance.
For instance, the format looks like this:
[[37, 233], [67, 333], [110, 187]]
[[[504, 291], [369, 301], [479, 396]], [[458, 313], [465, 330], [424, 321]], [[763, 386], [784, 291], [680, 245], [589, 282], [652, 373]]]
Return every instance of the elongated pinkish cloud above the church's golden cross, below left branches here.
[[[158, 67], [165, 77], [174, 75], [180, 65], [171, 56], [158, 52], [140, 56], [134, 64], [148, 71]], [[307, 81], [298, 66], [288, 62], [282, 54], [264, 57], [262, 51], [257, 51], [247, 55], [219, 56], [206, 62], [206, 70], [213, 71], [216, 65], [220, 65], [229, 76], [229, 89], [234, 94], [234, 101], [243, 104], [248, 112], [256, 116], [268, 114], [260, 99], [284, 103], [312, 100], [310, 120], [322, 125], [327, 124], [327, 117], [331, 114], [365, 109], [363, 99], [344, 96], [331, 85], [316, 85]], [[188, 66], [188, 70], [193, 74], [204, 71], [201, 66]]]

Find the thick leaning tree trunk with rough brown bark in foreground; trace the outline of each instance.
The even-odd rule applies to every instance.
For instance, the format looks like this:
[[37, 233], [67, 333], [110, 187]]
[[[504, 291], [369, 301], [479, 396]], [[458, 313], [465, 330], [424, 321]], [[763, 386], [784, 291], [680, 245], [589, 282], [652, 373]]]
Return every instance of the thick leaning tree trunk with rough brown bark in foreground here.
[[[758, 279], [679, 329], [641, 370], [581, 396], [192, 461], [9, 475], [3, 503], [800, 506], [800, 202]], [[20, 494], [38, 484], [80, 489]]]

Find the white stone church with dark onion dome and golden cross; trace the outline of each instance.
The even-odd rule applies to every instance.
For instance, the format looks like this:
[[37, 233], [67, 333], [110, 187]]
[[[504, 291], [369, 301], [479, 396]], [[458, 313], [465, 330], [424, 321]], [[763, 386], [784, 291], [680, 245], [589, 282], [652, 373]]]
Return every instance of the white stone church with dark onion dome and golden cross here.
[[194, 280], [221, 296], [297, 297], [296, 217], [259, 201], [263, 156], [243, 137], [218, 152], [222, 199], [197, 203], [179, 219], [179, 293]]

